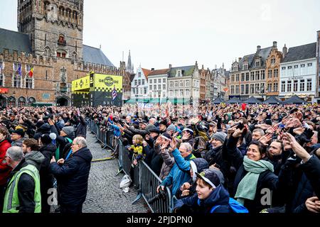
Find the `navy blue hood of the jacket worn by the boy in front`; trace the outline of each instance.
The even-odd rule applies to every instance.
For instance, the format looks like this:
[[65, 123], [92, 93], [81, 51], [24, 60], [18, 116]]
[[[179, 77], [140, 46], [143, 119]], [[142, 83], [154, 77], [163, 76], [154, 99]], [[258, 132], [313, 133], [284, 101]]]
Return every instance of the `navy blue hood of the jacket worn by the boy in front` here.
[[229, 204], [230, 195], [228, 191], [220, 184], [211, 192], [207, 199], [198, 199], [199, 206], [211, 208], [212, 206], [227, 205]]

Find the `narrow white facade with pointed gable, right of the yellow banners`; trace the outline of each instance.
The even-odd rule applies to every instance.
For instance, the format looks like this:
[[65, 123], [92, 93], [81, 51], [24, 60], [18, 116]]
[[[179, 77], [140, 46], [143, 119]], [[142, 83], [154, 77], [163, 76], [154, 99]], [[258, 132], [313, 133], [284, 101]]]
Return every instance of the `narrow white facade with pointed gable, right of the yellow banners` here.
[[137, 73], [132, 79], [131, 82], [131, 98], [130, 99], [148, 99], [149, 91], [148, 91], [148, 80], [146, 75], [144, 75], [144, 71], [142, 67], [137, 69]]

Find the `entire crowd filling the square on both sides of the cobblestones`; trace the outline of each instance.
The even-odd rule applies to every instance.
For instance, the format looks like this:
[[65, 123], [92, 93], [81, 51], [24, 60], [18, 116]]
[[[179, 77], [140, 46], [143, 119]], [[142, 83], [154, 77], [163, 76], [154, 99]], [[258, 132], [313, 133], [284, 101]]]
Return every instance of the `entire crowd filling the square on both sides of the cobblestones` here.
[[112, 128], [131, 177], [139, 162], [149, 165], [176, 213], [320, 212], [320, 106], [269, 104], [4, 109], [4, 212], [49, 212], [55, 182], [58, 210], [82, 211], [92, 160], [87, 121]]

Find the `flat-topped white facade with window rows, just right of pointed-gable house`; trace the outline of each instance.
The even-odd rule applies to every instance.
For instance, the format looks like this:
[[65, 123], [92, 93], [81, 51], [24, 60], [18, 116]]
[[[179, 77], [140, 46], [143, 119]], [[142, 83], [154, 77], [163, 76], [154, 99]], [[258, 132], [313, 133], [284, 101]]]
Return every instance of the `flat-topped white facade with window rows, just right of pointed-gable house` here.
[[151, 75], [148, 77], [149, 98], [166, 99], [168, 74]]

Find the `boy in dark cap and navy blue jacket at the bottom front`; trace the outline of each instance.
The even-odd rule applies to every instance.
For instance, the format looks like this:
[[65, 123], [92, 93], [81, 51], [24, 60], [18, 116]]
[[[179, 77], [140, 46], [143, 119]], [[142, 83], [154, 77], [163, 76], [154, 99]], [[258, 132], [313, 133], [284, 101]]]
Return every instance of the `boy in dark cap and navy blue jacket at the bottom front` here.
[[233, 213], [229, 193], [220, 184], [218, 175], [210, 169], [196, 175], [196, 194], [176, 201], [174, 213]]

